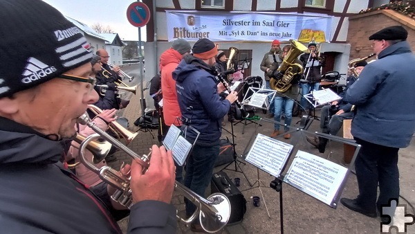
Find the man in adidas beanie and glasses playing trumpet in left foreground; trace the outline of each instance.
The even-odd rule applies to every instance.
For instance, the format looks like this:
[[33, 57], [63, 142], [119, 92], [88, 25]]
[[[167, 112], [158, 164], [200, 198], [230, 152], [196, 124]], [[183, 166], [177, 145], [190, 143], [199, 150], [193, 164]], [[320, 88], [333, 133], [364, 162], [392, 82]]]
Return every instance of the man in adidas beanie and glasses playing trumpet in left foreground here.
[[[63, 141], [98, 100], [86, 38], [39, 0], [0, 1], [0, 21], [1, 231], [121, 233], [110, 188], [85, 186], [59, 162]], [[145, 174], [131, 164], [128, 230], [176, 233], [172, 154], [152, 149]]]

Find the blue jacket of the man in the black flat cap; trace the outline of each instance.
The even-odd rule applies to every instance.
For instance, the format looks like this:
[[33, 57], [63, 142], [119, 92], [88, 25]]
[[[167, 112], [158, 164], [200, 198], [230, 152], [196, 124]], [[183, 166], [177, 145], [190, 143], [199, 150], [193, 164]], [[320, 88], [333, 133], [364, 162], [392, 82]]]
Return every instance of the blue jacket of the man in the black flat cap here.
[[365, 66], [345, 96], [357, 107], [353, 136], [388, 147], [409, 145], [415, 131], [414, 64], [409, 44], [398, 42]]

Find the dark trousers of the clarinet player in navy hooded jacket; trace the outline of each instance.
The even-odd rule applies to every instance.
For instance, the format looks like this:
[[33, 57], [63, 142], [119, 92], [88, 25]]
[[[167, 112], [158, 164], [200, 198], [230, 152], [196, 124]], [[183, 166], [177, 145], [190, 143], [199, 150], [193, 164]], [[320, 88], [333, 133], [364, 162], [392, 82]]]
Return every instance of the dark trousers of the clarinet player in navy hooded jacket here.
[[[219, 144], [214, 146], [194, 145], [192, 154], [187, 159], [185, 186], [205, 197], [205, 190], [212, 178], [214, 162], [219, 155]], [[190, 217], [196, 210], [196, 206], [185, 199], [186, 215]]]

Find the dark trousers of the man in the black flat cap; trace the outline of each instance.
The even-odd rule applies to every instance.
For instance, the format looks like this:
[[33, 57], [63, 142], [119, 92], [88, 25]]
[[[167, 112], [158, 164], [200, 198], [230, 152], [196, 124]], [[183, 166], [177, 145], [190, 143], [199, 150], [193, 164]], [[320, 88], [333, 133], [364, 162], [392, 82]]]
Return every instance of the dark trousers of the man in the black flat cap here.
[[[356, 157], [356, 176], [358, 178], [358, 204], [369, 212], [382, 210], [389, 199], [399, 198], [399, 148], [376, 145], [355, 138], [362, 145]], [[379, 185], [379, 197], [376, 201]]]

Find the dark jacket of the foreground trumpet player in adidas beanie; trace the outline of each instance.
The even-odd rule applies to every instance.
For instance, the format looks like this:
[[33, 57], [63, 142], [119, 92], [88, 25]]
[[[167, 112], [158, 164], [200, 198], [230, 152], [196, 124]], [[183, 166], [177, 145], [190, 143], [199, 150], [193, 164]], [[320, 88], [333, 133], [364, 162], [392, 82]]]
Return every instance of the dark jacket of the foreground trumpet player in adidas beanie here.
[[[62, 141], [0, 117], [2, 233], [121, 233], [107, 184], [84, 185], [63, 168], [62, 153]], [[175, 233], [175, 216], [172, 205], [141, 201], [131, 207], [129, 233]]]

